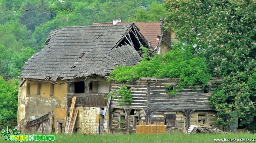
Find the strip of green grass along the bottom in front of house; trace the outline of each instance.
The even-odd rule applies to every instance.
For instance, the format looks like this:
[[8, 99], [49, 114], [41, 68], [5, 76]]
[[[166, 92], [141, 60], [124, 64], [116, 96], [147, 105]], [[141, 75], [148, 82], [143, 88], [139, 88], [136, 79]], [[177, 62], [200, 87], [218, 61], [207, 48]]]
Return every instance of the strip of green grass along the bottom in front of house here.
[[[30, 135], [30, 134], [27, 134]], [[136, 135], [136, 134], [106, 134], [106, 135], [83, 135], [72, 134], [62, 135], [54, 134], [55, 141], [60, 143], [209, 143], [214, 142], [214, 138], [254, 138], [256, 134], [250, 133], [228, 133], [228, 134], [162, 134], [162, 135]], [[5, 141], [3, 137], [0, 138], [0, 142], [13, 142]], [[26, 142], [26, 141], [25, 141]], [[29, 141], [29, 143], [36, 141]], [[44, 141], [38, 141], [44, 142]], [[49, 142], [49, 141], [45, 141]], [[241, 141], [239, 141], [241, 142]], [[248, 142], [248, 141], [247, 141]]]

